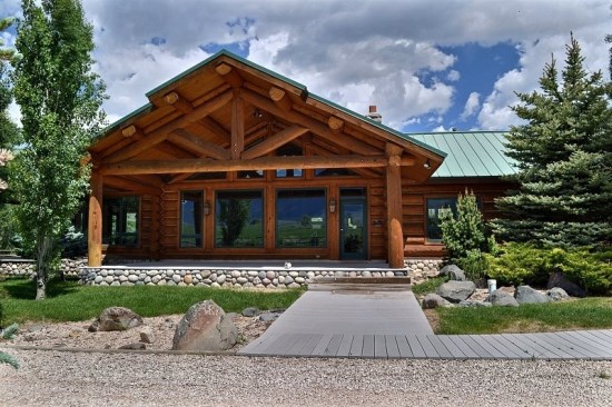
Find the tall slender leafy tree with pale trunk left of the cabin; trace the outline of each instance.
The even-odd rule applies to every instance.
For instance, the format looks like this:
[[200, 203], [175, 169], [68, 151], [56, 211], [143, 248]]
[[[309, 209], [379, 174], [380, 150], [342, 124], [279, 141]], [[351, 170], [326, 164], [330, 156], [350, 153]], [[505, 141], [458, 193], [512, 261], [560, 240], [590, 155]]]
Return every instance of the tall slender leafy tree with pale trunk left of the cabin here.
[[89, 168], [79, 161], [101, 125], [103, 83], [91, 72], [92, 28], [78, 0], [23, 0], [22, 10], [13, 81], [26, 148], [11, 162], [9, 183], [43, 299], [59, 266], [58, 240], [88, 187]]

